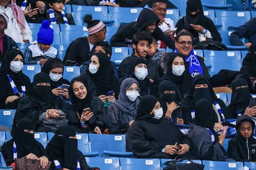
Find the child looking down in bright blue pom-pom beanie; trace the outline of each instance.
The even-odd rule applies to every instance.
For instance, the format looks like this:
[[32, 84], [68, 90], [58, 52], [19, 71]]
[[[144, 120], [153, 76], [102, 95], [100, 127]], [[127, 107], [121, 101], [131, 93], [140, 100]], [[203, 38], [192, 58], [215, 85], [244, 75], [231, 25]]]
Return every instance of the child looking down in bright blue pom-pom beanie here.
[[48, 59], [59, 59], [58, 50], [51, 46], [53, 44], [53, 29], [49, 27], [48, 20], [43, 20], [37, 33], [37, 42], [28, 46], [24, 52], [25, 64], [43, 65]]

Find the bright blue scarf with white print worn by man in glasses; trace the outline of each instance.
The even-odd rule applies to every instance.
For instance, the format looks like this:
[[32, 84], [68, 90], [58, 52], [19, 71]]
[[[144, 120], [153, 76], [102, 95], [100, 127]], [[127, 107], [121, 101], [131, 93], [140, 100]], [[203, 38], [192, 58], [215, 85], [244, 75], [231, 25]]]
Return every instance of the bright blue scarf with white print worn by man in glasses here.
[[[177, 49], [174, 52], [178, 52]], [[186, 57], [186, 62], [189, 63], [189, 73], [194, 78], [197, 75], [203, 75], [203, 67], [198, 60], [197, 55], [194, 54], [194, 51], [190, 51], [190, 54]]]

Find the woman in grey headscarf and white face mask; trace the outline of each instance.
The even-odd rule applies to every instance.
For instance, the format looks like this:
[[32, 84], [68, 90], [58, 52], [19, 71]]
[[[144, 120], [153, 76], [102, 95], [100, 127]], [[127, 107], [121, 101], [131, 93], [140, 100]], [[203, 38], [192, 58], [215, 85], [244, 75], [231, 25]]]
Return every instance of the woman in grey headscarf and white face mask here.
[[139, 83], [134, 78], [122, 81], [118, 100], [108, 107], [109, 134], [124, 134], [134, 123], [139, 104]]

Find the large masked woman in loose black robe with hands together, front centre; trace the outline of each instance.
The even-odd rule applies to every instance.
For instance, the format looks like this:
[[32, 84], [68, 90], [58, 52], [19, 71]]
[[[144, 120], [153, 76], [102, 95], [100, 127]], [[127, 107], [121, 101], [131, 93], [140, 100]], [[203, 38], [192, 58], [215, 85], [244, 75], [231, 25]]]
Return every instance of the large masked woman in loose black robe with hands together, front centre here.
[[139, 103], [137, 115], [126, 134], [126, 147], [139, 158], [195, 158], [188, 137], [169, 119], [153, 95], [145, 95]]

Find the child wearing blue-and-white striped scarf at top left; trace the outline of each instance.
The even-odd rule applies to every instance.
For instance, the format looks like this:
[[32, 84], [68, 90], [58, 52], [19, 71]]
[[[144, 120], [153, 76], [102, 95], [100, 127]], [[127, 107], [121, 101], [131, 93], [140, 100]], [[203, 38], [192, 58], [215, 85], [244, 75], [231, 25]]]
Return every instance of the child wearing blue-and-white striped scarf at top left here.
[[49, 21], [51, 24], [75, 25], [72, 15], [64, 12], [65, 0], [49, 0]]

